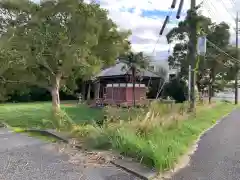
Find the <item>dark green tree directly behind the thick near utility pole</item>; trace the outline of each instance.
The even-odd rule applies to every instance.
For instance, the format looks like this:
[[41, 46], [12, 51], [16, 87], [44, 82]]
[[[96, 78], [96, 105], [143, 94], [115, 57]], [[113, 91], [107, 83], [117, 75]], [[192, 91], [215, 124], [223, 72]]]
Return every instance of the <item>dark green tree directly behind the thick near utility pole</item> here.
[[[187, 79], [188, 76], [188, 65], [190, 64], [187, 57], [188, 47], [189, 47], [189, 25], [191, 21], [197, 21], [198, 26], [201, 28], [199, 32], [206, 34], [207, 39], [216, 44], [221, 49], [226, 50], [229, 44], [229, 26], [222, 22], [220, 24], [212, 23], [211, 19], [197, 15], [194, 19], [190, 19], [189, 13], [184, 21], [178, 24], [178, 27], [173, 28], [168, 34], [167, 39], [169, 43], [177, 42], [172, 56], [169, 57], [168, 62], [170, 66], [175, 65], [175, 67], [180, 68], [180, 77]], [[204, 57], [199, 57], [197, 62], [197, 72], [196, 72], [196, 85], [198, 92], [202, 92], [204, 88], [209, 86], [210, 96], [209, 101], [214, 92], [214, 82], [215, 77], [219, 76], [223, 70], [226, 58], [223, 53], [216, 50], [213, 46], [207, 45], [207, 55]], [[201, 97], [201, 96], [199, 96]]]

